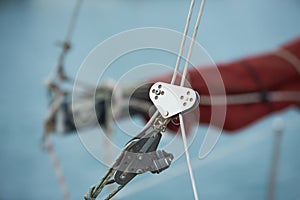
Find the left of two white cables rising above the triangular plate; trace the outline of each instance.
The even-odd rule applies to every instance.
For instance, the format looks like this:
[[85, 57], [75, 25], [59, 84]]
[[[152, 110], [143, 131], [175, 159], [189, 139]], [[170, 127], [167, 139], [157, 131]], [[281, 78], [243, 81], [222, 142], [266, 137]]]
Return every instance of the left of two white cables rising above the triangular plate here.
[[190, 4], [190, 9], [189, 9], [189, 12], [188, 12], [188, 16], [187, 16], [187, 19], [186, 19], [186, 23], [185, 23], [185, 27], [184, 27], [184, 31], [183, 31], [183, 35], [182, 35], [182, 39], [181, 39], [181, 45], [180, 45], [180, 49], [179, 49], [179, 52], [178, 52], [177, 61], [176, 61], [175, 69], [174, 69], [174, 72], [173, 72], [171, 84], [174, 84], [175, 81], [176, 81], [179, 64], [180, 64], [180, 61], [181, 61], [181, 58], [182, 58], [182, 52], [183, 52], [184, 44], [185, 44], [185, 41], [186, 41], [187, 33], [188, 33], [190, 22], [191, 22], [191, 16], [192, 16], [192, 13], [193, 13], [194, 4], [195, 4], [195, 0], [192, 0], [191, 4]]

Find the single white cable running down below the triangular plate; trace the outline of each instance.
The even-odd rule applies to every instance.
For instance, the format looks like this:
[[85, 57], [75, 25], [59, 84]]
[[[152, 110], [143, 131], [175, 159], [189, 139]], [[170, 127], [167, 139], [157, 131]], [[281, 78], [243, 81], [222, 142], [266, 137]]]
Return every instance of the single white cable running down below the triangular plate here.
[[182, 141], [183, 141], [184, 152], [185, 152], [185, 157], [186, 157], [186, 163], [187, 163], [187, 166], [188, 166], [188, 169], [189, 169], [189, 174], [190, 174], [190, 179], [191, 179], [191, 183], [192, 183], [194, 198], [195, 198], [195, 200], [198, 200], [198, 192], [197, 192], [197, 187], [196, 187], [196, 183], [195, 183], [195, 178], [194, 178], [194, 175], [193, 175], [192, 165], [191, 165], [191, 161], [190, 161], [190, 154], [189, 154], [187, 140], [186, 140], [184, 121], [183, 121], [183, 117], [182, 117], [181, 113], [179, 114], [179, 122], [180, 122]]

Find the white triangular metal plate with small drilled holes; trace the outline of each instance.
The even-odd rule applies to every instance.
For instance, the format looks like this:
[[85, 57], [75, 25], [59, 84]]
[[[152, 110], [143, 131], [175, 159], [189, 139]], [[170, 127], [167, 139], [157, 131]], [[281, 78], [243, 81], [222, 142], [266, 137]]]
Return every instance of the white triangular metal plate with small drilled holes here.
[[164, 118], [192, 110], [200, 102], [199, 94], [193, 89], [164, 82], [152, 85], [149, 97]]

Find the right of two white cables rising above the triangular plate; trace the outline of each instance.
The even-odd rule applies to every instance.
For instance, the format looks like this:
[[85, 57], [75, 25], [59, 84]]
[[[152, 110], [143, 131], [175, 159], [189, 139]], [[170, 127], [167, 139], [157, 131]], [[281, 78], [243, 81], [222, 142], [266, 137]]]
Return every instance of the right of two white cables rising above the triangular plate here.
[[204, 9], [204, 4], [205, 4], [205, 0], [202, 0], [201, 5], [200, 5], [200, 9], [199, 9], [199, 12], [198, 12], [197, 21], [196, 21], [195, 28], [194, 28], [192, 40], [191, 40], [191, 43], [190, 43], [188, 55], [186, 57], [185, 65], [184, 65], [184, 68], [183, 68], [183, 73], [182, 73], [182, 77], [181, 77], [180, 86], [183, 86], [184, 82], [185, 82], [187, 68], [188, 68], [188, 65], [189, 65], [190, 57], [192, 55], [193, 47], [194, 47], [195, 40], [196, 40], [196, 37], [197, 37], [197, 33], [198, 33], [200, 21], [201, 21], [201, 16], [202, 16], [203, 9]]

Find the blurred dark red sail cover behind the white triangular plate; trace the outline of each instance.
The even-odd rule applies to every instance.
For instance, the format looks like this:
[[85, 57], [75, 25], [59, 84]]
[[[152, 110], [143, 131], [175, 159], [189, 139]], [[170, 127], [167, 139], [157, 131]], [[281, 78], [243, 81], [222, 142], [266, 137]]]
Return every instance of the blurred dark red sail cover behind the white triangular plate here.
[[[277, 51], [243, 58], [231, 63], [221, 63], [217, 66], [225, 85], [226, 96], [252, 92], [261, 92], [262, 94], [261, 100], [257, 103], [226, 105], [225, 123], [223, 127], [219, 128], [236, 131], [274, 111], [292, 105], [296, 105], [298, 108], [300, 106], [300, 99], [276, 102], [268, 99], [268, 94], [274, 91], [300, 92], [300, 38], [283, 45]], [[187, 77], [192, 88], [200, 96], [212, 95], [209, 93], [203, 77], [214, 77], [216, 72], [212, 67], [193, 68], [188, 71]], [[169, 82], [170, 77], [170, 75], [163, 76], [155, 81]], [[216, 95], [218, 86], [214, 87], [216, 87], [213, 90]], [[199, 123], [213, 123], [211, 122], [212, 106], [200, 103], [199, 108]], [[178, 125], [170, 124], [170, 129], [178, 130]]]

